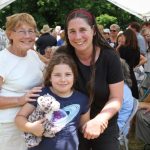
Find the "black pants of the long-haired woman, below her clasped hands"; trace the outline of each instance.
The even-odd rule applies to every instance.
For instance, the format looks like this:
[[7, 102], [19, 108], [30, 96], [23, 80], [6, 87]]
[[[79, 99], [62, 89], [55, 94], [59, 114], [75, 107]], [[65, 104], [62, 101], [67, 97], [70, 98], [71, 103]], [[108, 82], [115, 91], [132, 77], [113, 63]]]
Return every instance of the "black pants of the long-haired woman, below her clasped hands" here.
[[97, 139], [87, 140], [79, 132], [79, 150], [119, 150], [119, 129], [117, 125], [108, 127]]

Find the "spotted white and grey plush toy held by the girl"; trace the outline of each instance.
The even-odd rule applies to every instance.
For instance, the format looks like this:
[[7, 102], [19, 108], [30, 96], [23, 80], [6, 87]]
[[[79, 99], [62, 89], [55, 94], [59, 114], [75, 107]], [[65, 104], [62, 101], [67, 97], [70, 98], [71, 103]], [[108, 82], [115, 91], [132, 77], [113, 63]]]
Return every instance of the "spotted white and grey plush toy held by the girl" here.
[[[60, 103], [50, 95], [40, 96], [37, 99], [37, 107], [28, 117], [29, 122], [35, 122], [44, 117], [47, 119], [43, 123], [45, 137], [54, 137], [57, 132], [59, 132], [63, 127], [58, 127], [53, 124], [52, 117], [54, 111], [58, 111], [60, 108]], [[41, 137], [37, 137], [31, 133], [25, 133], [25, 142], [27, 147], [37, 146], [41, 142]]]

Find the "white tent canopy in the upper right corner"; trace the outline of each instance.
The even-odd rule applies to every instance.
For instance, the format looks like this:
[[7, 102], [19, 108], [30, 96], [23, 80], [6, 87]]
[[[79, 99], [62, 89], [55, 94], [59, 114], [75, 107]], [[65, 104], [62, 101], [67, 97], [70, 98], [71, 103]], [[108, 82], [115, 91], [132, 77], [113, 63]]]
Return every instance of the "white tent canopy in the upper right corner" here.
[[146, 21], [150, 20], [150, 0], [107, 0]]

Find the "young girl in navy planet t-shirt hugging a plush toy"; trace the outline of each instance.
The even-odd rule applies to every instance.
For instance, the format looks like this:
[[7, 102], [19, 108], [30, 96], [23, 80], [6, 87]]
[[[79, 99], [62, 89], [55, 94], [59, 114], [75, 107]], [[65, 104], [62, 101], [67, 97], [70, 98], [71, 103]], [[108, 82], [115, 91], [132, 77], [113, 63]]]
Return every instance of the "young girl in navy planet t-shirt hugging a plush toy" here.
[[[77, 129], [82, 126], [89, 118], [88, 98], [84, 94], [73, 89], [73, 84], [77, 78], [77, 68], [75, 63], [66, 54], [55, 54], [46, 70], [45, 87], [40, 95], [50, 94], [60, 102], [60, 108], [68, 107], [73, 119], [58, 132], [55, 137], [42, 137], [38, 146], [29, 148], [29, 150], [78, 150]], [[74, 107], [78, 105], [79, 109]], [[36, 136], [42, 136], [44, 131], [42, 122], [39, 120], [34, 123], [28, 122], [28, 116], [33, 112], [37, 105], [27, 103], [16, 116], [16, 124], [24, 132], [30, 132]], [[72, 116], [71, 116], [72, 117]], [[79, 122], [80, 121], [80, 122]]]

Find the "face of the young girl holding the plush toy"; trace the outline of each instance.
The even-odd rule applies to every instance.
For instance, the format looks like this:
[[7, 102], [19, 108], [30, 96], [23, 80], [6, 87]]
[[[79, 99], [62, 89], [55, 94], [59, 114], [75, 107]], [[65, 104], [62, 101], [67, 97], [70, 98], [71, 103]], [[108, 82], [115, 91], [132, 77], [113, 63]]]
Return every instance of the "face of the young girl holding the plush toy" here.
[[56, 95], [67, 97], [72, 91], [74, 74], [67, 64], [55, 65], [51, 74], [50, 82]]

